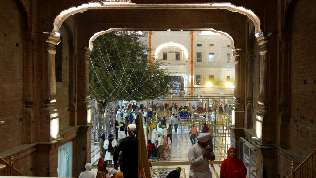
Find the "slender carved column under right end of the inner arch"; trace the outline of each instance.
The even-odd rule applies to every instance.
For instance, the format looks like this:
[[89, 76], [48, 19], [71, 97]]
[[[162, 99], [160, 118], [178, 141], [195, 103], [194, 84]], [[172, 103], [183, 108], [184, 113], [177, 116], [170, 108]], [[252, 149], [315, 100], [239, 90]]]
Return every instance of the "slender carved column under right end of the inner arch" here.
[[240, 55], [234, 50], [233, 55], [235, 57], [235, 90], [234, 90], [234, 108], [240, 106]]

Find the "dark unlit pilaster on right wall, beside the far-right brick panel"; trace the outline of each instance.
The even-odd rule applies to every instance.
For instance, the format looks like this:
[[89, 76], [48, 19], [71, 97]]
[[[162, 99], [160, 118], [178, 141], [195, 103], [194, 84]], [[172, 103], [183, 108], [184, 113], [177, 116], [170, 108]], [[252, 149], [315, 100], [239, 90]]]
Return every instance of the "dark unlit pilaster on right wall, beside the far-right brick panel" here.
[[288, 41], [283, 40], [281, 45], [281, 66], [280, 70], [280, 91], [279, 91], [279, 125], [278, 125], [278, 145], [280, 147], [287, 147], [289, 143], [288, 130], [289, 130], [289, 117], [288, 117], [288, 68], [289, 68], [289, 55], [288, 55]]

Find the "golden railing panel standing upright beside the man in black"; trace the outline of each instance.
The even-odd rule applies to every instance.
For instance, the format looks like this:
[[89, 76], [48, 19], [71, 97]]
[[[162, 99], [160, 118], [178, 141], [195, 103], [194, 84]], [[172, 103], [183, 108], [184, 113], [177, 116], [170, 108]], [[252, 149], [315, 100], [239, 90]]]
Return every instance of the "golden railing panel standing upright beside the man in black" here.
[[151, 178], [143, 121], [138, 125], [138, 178]]

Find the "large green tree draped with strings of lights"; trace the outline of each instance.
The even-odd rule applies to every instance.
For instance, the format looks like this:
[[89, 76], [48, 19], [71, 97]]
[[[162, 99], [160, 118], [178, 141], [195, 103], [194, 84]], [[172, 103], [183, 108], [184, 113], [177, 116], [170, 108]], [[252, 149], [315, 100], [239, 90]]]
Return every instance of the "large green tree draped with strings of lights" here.
[[168, 71], [152, 59], [151, 71], [143, 53], [148, 47], [136, 31], [100, 35], [93, 42], [89, 64], [91, 98], [105, 101], [143, 100], [166, 93]]

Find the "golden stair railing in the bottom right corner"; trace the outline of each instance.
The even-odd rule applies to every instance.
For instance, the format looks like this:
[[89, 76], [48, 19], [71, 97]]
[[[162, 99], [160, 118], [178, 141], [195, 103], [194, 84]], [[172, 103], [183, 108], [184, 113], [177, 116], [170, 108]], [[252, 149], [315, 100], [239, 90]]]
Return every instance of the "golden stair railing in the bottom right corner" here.
[[316, 177], [316, 149], [295, 169], [292, 161], [291, 169], [288, 178]]

